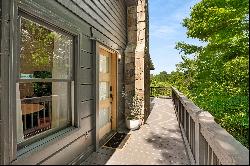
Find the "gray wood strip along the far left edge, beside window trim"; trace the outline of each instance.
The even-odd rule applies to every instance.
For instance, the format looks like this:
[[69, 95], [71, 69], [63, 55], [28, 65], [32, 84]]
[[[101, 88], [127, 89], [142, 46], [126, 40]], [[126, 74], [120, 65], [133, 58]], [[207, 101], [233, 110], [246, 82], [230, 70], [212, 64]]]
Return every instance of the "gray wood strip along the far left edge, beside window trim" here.
[[[9, 23], [6, 21], [9, 19], [9, 1], [0, 0], [1, 4], [1, 46], [0, 46], [0, 57], [1, 57], [1, 78], [0, 78], [0, 116], [1, 116], [1, 122], [0, 122], [0, 164], [8, 164], [8, 160], [4, 158], [4, 156], [10, 156], [11, 150], [9, 149], [8, 141], [4, 142], [4, 140], [9, 138], [9, 130], [6, 130], [6, 127], [10, 123], [10, 120], [7, 118], [9, 117], [9, 105], [8, 105], [8, 90], [9, 90], [9, 84], [8, 84], [8, 67], [9, 67]], [[10, 127], [11, 129], [11, 127]]]

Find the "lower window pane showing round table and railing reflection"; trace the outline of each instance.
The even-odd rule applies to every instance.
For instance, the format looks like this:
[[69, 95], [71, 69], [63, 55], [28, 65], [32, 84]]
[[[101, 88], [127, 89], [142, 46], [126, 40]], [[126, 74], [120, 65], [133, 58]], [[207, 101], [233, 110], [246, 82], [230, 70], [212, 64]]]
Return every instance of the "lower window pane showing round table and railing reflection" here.
[[17, 88], [18, 134], [24, 139], [70, 124], [67, 82], [19, 83]]

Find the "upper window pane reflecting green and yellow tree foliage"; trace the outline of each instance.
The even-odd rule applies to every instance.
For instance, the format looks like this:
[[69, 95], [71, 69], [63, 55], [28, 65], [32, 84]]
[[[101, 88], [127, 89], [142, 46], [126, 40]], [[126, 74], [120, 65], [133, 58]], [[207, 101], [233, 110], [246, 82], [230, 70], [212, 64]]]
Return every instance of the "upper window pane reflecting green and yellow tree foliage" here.
[[20, 77], [70, 78], [72, 37], [22, 18]]

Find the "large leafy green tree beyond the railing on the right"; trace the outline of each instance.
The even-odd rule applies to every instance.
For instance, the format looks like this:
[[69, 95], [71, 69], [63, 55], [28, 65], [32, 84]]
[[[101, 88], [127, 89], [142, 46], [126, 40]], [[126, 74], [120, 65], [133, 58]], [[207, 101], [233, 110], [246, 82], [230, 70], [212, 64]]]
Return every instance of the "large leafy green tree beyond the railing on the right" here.
[[188, 37], [206, 45], [177, 43], [181, 53], [194, 55], [192, 59], [183, 56], [177, 65], [184, 73], [180, 87], [249, 147], [249, 1], [202, 0], [183, 26]]

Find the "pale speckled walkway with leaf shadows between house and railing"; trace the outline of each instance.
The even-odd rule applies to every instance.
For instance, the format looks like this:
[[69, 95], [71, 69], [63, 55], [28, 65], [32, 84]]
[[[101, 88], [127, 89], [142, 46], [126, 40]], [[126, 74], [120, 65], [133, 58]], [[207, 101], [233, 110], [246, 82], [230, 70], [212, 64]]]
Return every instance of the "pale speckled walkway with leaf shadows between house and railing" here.
[[82, 165], [189, 165], [171, 99], [155, 98], [145, 125], [130, 131], [122, 149], [102, 147]]

